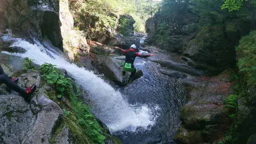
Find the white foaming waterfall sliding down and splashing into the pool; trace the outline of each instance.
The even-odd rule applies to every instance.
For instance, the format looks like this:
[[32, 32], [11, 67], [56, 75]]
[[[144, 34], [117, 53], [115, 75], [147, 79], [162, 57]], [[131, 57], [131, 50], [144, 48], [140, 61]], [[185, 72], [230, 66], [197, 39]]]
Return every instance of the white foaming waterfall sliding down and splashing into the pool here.
[[12, 38], [10, 31], [9, 34], [2, 34], [2, 38], [4, 41], [12, 41], [10, 49], [18, 47], [26, 50], [22, 54], [3, 52], [5, 54], [22, 58], [28, 57], [38, 65], [52, 63], [60, 69], [66, 69], [68, 74], [90, 93], [90, 98], [95, 103], [92, 107], [93, 112], [110, 128], [111, 132], [119, 130], [135, 132], [137, 128], [146, 130], [154, 125], [157, 118], [157, 114], [154, 111], [157, 106], [150, 109], [147, 105], [137, 104], [135, 106], [128, 104], [120, 92], [115, 91], [109, 84], [94, 75], [93, 72], [67, 62], [60, 55], [56, 55], [44, 48], [38, 40], [35, 40], [35, 44], [31, 44], [20, 38]]

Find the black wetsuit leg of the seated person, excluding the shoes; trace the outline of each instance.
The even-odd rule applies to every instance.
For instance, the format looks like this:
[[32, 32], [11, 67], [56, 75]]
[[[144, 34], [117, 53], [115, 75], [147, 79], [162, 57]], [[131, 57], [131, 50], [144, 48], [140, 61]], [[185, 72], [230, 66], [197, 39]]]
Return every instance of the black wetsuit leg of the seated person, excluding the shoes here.
[[6, 86], [15, 92], [18, 92], [20, 95], [22, 95], [24, 98], [28, 97], [26, 95], [26, 90], [20, 88], [14, 81], [12, 81], [11, 78], [8, 77], [3, 71], [2, 66], [0, 65], [0, 84], [6, 84]]

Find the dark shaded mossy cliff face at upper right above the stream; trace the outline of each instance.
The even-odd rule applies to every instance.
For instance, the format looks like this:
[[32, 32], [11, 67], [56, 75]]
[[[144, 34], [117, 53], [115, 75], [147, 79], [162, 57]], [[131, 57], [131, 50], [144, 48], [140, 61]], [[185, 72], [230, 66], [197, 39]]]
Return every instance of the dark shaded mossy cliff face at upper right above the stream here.
[[[206, 74], [216, 75], [227, 67], [236, 66], [235, 46], [241, 36], [255, 29], [255, 17], [232, 16], [216, 10], [218, 16], [223, 16], [216, 21], [214, 15], [205, 18], [193, 10], [185, 7], [175, 14], [158, 12], [149, 18], [145, 25], [146, 42], [188, 56], [196, 61], [190, 66], [202, 69]], [[249, 11], [244, 15], [253, 13], [253, 9]]]

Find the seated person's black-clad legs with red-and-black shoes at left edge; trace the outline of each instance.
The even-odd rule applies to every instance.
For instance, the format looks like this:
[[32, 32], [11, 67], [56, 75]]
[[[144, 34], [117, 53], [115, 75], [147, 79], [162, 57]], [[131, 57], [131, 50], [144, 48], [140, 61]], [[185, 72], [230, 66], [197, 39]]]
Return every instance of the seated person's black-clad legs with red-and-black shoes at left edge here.
[[35, 92], [36, 85], [33, 84], [26, 89], [22, 89], [16, 84], [18, 81], [19, 78], [8, 77], [8, 75], [5, 74], [2, 66], [0, 65], [0, 84], [6, 84], [8, 89], [12, 89], [15, 92], [18, 92], [27, 102], [30, 102], [30, 100], [32, 99], [32, 94]]

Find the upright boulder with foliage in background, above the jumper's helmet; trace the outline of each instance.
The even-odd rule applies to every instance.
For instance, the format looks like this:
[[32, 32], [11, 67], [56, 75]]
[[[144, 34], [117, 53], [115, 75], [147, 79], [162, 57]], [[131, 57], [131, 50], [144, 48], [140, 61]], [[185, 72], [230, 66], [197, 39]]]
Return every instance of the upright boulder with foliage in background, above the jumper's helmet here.
[[133, 36], [134, 35], [134, 23], [135, 20], [131, 15], [120, 15], [119, 17], [119, 26], [117, 27], [117, 31], [125, 36]]

